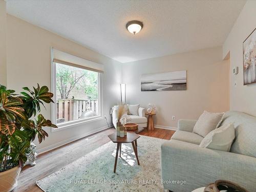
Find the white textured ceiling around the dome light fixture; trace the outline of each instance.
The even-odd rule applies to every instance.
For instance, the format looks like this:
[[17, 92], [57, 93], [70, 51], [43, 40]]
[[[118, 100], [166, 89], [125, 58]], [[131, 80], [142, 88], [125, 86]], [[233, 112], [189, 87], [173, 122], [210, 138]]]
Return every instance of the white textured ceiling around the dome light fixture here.
[[[24, 1], [7, 12], [120, 62], [221, 46], [245, 1]], [[143, 22], [129, 33], [130, 20]]]

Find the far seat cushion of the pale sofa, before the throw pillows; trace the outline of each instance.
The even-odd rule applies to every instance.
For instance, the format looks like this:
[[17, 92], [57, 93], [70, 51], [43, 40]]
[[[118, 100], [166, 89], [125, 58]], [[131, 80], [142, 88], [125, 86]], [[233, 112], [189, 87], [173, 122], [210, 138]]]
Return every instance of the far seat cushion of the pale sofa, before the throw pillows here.
[[186, 132], [186, 131], [176, 131], [171, 139], [180, 140], [180, 141], [199, 145], [201, 143], [201, 141], [203, 140], [203, 137], [196, 133], [191, 133], [191, 132]]

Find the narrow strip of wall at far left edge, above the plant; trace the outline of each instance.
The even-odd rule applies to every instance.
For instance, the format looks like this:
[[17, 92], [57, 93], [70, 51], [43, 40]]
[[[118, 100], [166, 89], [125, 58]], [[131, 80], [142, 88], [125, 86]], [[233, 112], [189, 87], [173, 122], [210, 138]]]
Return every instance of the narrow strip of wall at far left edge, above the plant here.
[[0, 84], [6, 86], [6, 2], [0, 1]]

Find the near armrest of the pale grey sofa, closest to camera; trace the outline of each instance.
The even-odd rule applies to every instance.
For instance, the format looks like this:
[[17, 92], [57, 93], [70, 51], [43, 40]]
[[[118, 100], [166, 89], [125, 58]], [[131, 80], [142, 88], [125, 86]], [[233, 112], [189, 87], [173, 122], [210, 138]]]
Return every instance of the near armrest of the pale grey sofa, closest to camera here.
[[255, 190], [256, 158], [178, 140], [161, 145], [162, 179], [186, 181], [186, 184], [163, 183], [172, 191], [191, 191], [223, 179], [237, 183], [248, 191]]

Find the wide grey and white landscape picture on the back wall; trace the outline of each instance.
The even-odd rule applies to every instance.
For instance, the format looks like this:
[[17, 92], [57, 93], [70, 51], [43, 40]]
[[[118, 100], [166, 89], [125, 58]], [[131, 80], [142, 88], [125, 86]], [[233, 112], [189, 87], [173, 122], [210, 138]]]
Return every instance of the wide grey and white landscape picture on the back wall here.
[[186, 89], [186, 70], [141, 76], [141, 91], [177, 91]]

